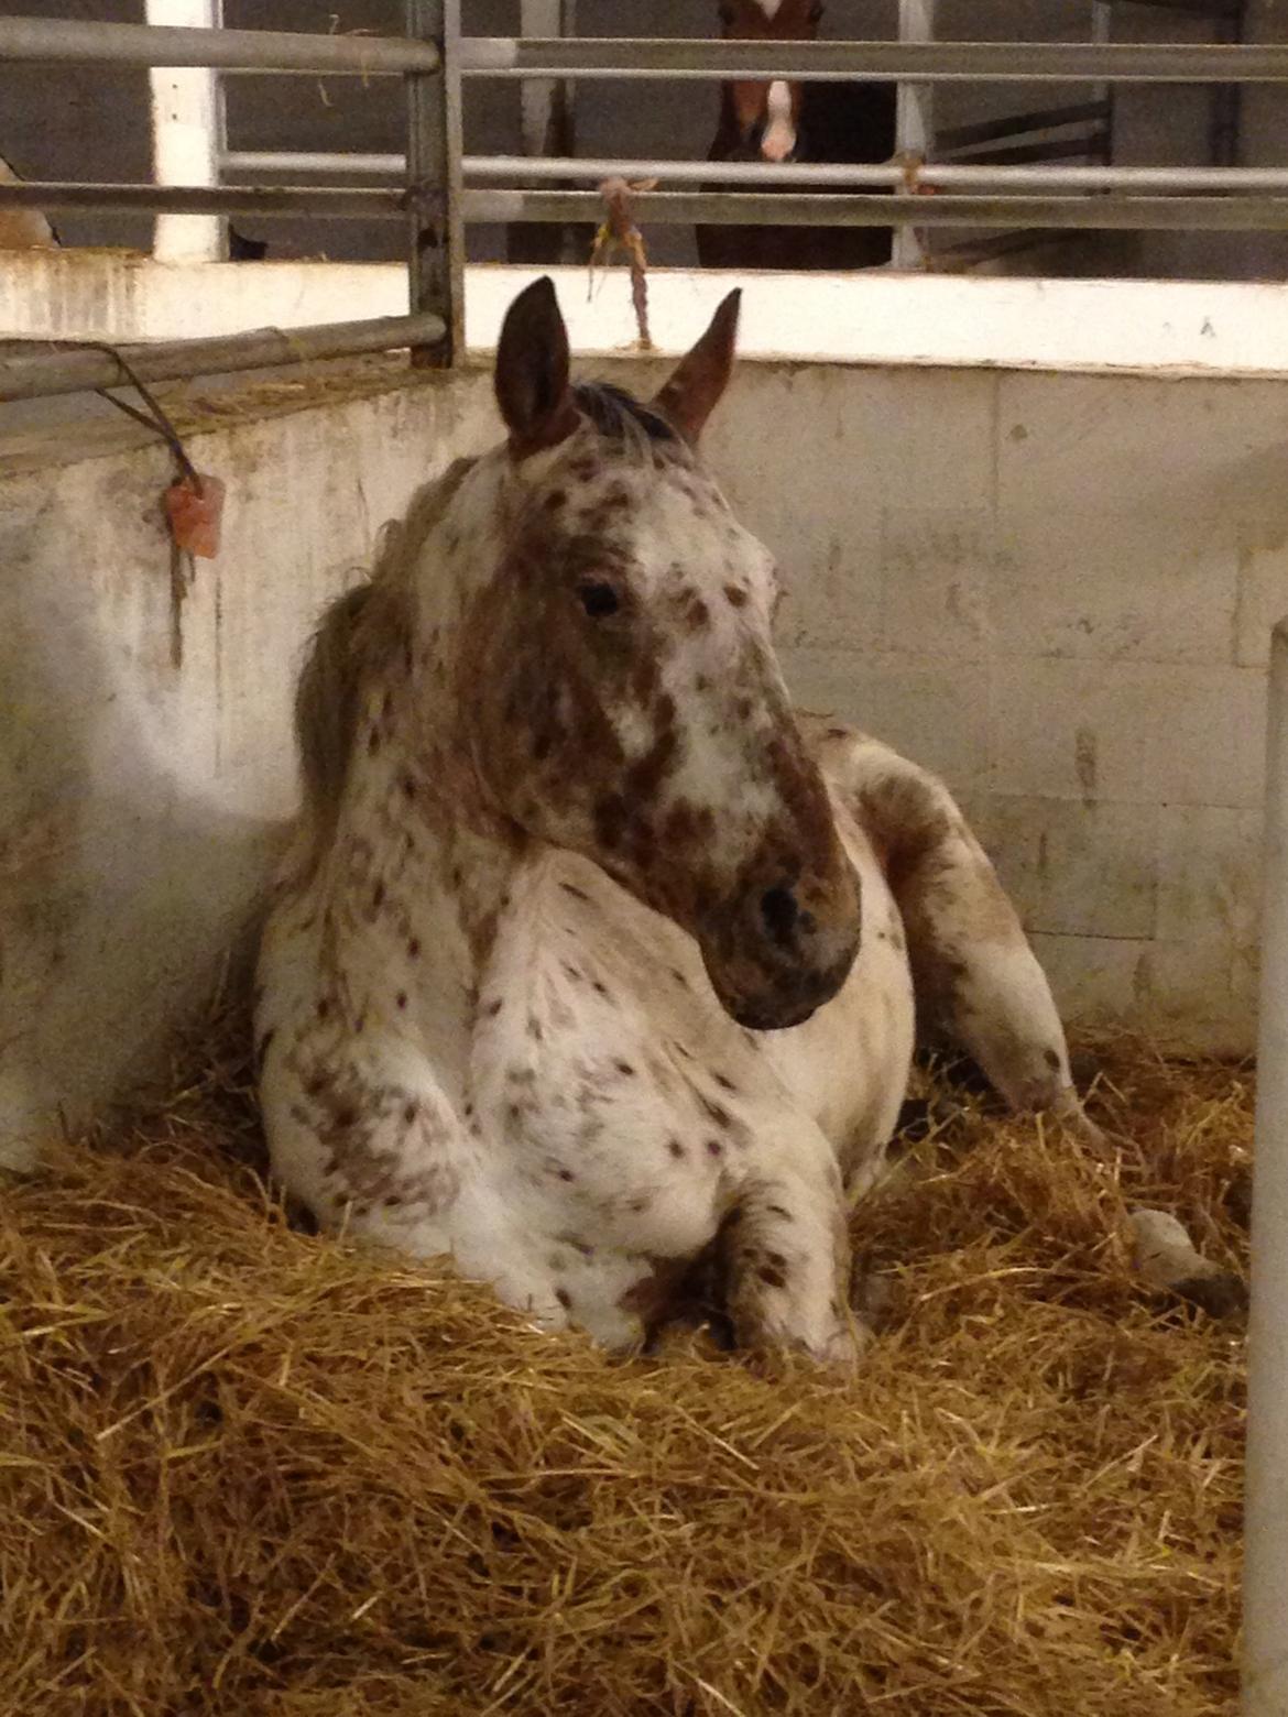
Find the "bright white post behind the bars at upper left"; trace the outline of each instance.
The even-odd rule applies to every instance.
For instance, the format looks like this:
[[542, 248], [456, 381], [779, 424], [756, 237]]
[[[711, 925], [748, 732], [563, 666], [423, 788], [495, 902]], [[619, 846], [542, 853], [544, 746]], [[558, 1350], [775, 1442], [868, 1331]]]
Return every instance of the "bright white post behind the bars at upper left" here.
[[[149, 24], [220, 29], [223, 0], [148, 0]], [[158, 185], [216, 185], [223, 153], [223, 89], [206, 67], [156, 65], [153, 91], [153, 180]], [[160, 263], [218, 263], [227, 254], [218, 215], [158, 215], [153, 256]]]

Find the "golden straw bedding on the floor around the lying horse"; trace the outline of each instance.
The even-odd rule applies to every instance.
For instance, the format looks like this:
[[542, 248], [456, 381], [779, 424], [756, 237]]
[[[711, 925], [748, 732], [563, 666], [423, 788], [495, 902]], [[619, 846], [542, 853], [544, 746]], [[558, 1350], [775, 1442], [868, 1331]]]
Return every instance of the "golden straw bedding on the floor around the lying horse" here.
[[1250, 1078], [1103, 1066], [1106, 1162], [938, 1089], [838, 1382], [311, 1236], [208, 1054], [5, 1190], [0, 1710], [1233, 1712], [1242, 1332], [1151, 1303], [1123, 1214], [1238, 1260]]

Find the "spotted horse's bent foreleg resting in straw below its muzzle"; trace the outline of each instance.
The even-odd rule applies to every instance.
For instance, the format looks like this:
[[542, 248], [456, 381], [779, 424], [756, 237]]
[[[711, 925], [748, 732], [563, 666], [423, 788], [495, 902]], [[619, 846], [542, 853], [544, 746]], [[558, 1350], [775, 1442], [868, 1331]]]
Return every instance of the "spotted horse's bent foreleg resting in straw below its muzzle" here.
[[[809, 1150], [817, 1159], [819, 1150]], [[720, 1236], [725, 1308], [740, 1348], [804, 1350], [852, 1365], [862, 1329], [848, 1314], [850, 1240], [840, 1174], [778, 1161], [749, 1180]]]

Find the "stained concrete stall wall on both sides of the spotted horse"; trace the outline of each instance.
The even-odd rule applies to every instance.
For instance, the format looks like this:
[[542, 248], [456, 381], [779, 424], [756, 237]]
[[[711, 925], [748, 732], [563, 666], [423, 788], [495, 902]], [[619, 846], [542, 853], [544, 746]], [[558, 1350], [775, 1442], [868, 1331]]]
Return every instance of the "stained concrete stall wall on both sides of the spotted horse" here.
[[[599, 361], [641, 386], [656, 367]], [[223, 549], [172, 563], [134, 426], [0, 453], [0, 1137], [146, 1070], [295, 797], [301, 646], [484, 371], [222, 395]], [[196, 410], [196, 407], [191, 407]], [[941, 771], [1077, 1020], [1252, 1039], [1281, 381], [745, 364], [709, 455], [790, 591], [800, 701]]]

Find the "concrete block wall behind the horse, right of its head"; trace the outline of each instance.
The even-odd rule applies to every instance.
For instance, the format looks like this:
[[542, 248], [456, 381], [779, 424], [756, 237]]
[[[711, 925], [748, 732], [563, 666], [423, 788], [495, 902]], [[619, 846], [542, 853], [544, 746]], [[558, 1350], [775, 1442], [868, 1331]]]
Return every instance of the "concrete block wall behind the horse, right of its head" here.
[[1065, 1008], [1249, 1049], [1288, 390], [768, 369], [713, 441], [797, 695], [945, 776]]

